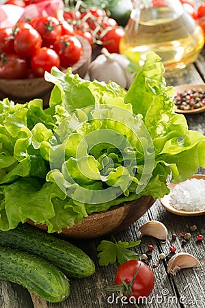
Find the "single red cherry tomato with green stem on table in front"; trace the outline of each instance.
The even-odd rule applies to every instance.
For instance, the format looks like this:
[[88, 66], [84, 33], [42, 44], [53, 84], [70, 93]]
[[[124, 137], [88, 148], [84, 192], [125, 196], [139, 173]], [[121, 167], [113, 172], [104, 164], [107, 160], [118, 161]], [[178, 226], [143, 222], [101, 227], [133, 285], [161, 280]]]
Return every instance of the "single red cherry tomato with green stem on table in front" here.
[[124, 294], [127, 298], [134, 296], [135, 299], [143, 296], [148, 297], [154, 288], [154, 274], [152, 270], [143, 261], [130, 260], [121, 264], [115, 275], [115, 285], [121, 285], [122, 280], [131, 283], [136, 270], [139, 268], [133, 285], [132, 294]]

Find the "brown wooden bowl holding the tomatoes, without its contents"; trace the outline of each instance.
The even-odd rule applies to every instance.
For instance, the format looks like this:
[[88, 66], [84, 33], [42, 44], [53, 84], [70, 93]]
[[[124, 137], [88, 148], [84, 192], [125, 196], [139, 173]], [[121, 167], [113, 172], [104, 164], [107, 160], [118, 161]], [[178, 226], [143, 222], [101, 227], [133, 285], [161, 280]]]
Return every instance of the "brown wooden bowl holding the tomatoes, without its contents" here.
[[[72, 66], [72, 73], [78, 73], [81, 78], [85, 77], [87, 67], [91, 62], [92, 47], [81, 36], [77, 36], [83, 47], [83, 55]], [[66, 72], [66, 70], [64, 70]], [[43, 99], [50, 94], [53, 88], [51, 82], [45, 81], [44, 77], [31, 79], [2, 79], [0, 78], [0, 99], [8, 97], [15, 103], [25, 103], [31, 99]], [[46, 106], [47, 107], [47, 104]]]

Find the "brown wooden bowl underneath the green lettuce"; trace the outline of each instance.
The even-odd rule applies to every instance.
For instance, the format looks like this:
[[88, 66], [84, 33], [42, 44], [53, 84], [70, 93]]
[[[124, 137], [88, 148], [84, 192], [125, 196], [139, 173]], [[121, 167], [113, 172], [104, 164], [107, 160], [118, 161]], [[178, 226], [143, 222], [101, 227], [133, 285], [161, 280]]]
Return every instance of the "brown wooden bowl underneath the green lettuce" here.
[[[107, 211], [90, 214], [81, 223], [74, 224], [69, 229], [63, 228], [60, 235], [65, 238], [91, 239], [118, 233], [143, 216], [153, 203], [152, 196], [142, 196], [135, 201], [111, 207]], [[38, 229], [47, 231], [45, 224], [34, 224], [32, 220], [27, 220], [27, 222]]]

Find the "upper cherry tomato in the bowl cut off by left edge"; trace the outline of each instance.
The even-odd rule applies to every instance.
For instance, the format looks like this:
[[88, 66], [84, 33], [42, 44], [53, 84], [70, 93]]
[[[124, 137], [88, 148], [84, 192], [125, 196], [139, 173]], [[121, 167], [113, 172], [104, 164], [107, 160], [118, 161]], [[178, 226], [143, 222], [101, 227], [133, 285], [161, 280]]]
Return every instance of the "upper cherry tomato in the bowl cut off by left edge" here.
[[0, 28], [0, 51], [14, 53], [14, 36], [12, 28]]

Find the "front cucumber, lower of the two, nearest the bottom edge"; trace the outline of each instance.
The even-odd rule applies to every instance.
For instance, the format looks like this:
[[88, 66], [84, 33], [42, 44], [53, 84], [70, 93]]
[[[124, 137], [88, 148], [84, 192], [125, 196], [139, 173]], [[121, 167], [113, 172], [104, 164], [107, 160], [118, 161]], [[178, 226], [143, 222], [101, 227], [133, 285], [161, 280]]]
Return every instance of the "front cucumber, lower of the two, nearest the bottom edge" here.
[[8, 247], [0, 247], [0, 280], [23, 285], [50, 303], [60, 303], [70, 294], [70, 282], [58, 268]]

